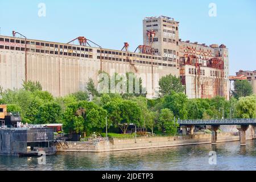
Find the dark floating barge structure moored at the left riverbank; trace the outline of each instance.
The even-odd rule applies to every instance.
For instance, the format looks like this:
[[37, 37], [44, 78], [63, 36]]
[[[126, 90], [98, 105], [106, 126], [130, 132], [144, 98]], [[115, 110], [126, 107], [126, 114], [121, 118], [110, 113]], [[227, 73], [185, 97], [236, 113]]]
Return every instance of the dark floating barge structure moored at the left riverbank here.
[[[53, 155], [53, 129], [36, 125], [23, 125], [19, 113], [7, 113], [0, 105], [0, 155]], [[4, 118], [3, 118], [4, 116]]]

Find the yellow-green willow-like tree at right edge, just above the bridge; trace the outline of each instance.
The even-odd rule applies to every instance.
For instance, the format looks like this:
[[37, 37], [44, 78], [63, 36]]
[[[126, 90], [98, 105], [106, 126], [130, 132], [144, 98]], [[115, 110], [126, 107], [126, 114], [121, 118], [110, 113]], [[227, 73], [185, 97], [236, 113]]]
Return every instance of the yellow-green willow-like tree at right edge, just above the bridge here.
[[236, 104], [237, 118], [256, 118], [256, 95], [240, 97]]

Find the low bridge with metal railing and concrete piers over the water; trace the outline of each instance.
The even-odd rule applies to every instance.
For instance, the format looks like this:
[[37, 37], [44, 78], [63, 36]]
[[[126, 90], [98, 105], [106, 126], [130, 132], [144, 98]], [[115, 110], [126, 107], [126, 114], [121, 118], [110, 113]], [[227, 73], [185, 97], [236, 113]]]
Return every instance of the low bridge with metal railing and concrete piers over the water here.
[[[237, 129], [240, 131], [240, 144], [241, 146], [246, 145], [246, 130], [249, 125], [256, 127], [256, 119], [189, 119], [189, 120], [178, 120], [183, 135], [187, 134], [189, 128], [189, 135], [194, 134], [195, 126], [211, 126], [212, 131], [212, 144], [217, 142], [217, 130], [220, 129], [220, 125], [237, 125]], [[253, 130], [254, 131], [254, 130]]]

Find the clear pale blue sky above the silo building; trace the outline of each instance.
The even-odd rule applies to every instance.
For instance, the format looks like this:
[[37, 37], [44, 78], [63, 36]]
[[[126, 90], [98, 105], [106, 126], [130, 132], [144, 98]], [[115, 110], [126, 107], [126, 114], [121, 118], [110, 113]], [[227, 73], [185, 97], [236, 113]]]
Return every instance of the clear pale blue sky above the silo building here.
[[[39, 3], [45, 3], [46, 17], [38, 16]], [[216, 17], [208, 15], [209, 3], [216, 3]], [[0, 1], [0, 7], [1, 35], [16, 30], [63, 43], [85, 36], [105, 48], [121, 49], [129, 42], [131, 51], [143, 43], [143, 18], [166, 15], [180, 22], [183, 40], [228, 46], [230, 75], [256, 70], [255, 0], [9, 0]]]

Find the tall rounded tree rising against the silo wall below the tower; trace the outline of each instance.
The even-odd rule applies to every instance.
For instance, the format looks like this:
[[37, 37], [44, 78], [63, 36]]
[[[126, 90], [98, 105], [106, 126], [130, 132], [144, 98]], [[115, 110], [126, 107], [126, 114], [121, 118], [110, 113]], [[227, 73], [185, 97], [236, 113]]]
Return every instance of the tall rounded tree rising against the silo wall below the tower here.
[[160, 97], [170, 95], [171, 92], [184, 92], [185, 88], [181, 84], [180, 78], [177, 78], [176, 76], [167, 75], [163, 76], [159, 80], [159, 95]]

